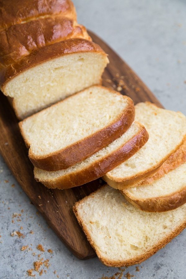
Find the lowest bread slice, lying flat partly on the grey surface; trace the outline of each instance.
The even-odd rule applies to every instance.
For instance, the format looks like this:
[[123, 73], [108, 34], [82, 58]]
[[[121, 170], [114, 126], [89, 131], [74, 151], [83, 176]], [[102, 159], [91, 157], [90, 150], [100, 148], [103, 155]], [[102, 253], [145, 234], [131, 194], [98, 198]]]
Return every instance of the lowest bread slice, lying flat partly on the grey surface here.
[[73, 211], [107, 266], [141, 263], [186, 227], [186, 205], [168, 212], [144, 212], [108, 185], [78, 201]]

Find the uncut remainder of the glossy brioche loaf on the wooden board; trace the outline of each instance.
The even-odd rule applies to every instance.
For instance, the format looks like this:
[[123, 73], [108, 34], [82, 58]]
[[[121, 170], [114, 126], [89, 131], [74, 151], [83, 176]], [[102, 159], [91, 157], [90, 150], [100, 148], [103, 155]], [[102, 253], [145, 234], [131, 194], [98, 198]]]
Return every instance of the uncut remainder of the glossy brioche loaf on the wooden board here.
[[0, 88], [23, 119], [100, 84], [107, 55], [76, 21], [69, 0], [4, 0], [0, 14]]

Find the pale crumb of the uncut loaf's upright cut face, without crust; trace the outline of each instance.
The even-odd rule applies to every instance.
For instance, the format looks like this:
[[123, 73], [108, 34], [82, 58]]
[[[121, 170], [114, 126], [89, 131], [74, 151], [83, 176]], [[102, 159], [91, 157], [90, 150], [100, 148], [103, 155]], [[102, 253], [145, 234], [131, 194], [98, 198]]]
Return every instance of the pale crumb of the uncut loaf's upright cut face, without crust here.
[[100, 84], [108, 58], [99, 52], [61, 55], [30, 68], [10, 80], [3, 93], [14, 97], [13, 108], [22, 120], [86, 87]]

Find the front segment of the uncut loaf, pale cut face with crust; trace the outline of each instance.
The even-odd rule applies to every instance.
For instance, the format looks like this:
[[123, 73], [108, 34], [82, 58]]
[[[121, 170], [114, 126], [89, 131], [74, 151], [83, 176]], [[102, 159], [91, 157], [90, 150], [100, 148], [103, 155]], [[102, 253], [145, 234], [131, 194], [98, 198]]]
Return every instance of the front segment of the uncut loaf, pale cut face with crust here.
[[3, 69], [1, 90], [14, 97], [19, 119], [45, 108], [88, 86], [100, 84], [108, 63], [93, 42], [70, 39], [38, 48], [13, 67]]

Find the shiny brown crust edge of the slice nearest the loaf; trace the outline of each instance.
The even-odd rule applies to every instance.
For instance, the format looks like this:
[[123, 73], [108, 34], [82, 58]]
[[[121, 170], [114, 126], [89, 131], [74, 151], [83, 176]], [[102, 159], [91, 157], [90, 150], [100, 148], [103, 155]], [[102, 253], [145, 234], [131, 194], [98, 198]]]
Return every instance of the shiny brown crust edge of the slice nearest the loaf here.
[[[102, 86], [97, 87], [100, 87], [100, 89], [103, 88]], [[109, 91], [113, 92], [114, 94], [120, 95], [115, 91]], [[81, 91], [77, 94], [81, 94]], [[69, 96], [68, 98], [73, 98], [73, 96]], [[127, 131], [134, 121], [134, 103], [131, 98], [127, 96], [123, 96], [123, 98], [127, 98], [127, 107], [120, 115], [118, 115], [116, 119], [114, 119], [111, 124], [97, 131], [96, 133], [89, 135], [74, 144], [69, 145], [67, 148], [63, 148], [56, 152], [50, 153], [47, 156], [35, 156], [31, 152], [31, 150], [29, 150], [29, 158], [33, 165], [39, 169], [47, 171], [67, 169], [68, 167], [85, 160], [87, 157], [90, 157], [92, 154], [98, 152], [100, 149], [113, 142], [125, 131]], [[60, 102], [64, 102], [64, 100]], [[29, 147], [29, 143], [27, 142], [24, 131], [22, 129], [22, 123], [24, 123], [24, 120], [19, 123], [20, 131], [27, 147]]]

